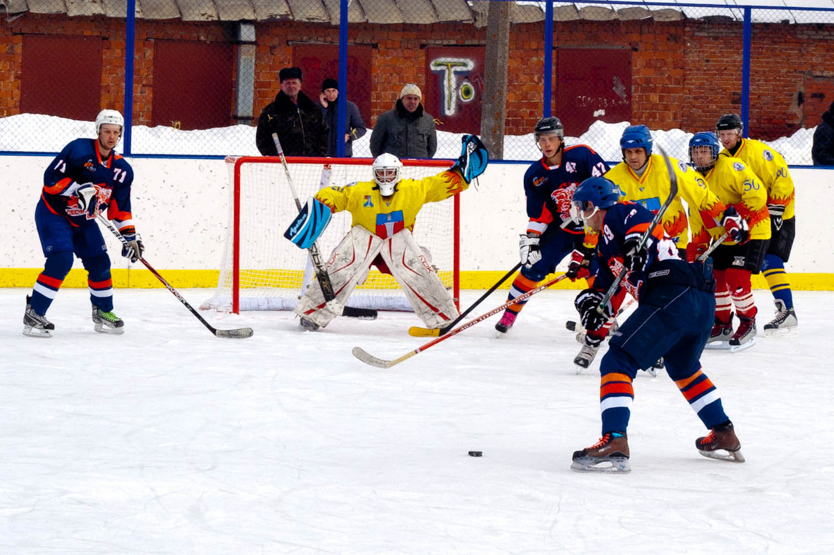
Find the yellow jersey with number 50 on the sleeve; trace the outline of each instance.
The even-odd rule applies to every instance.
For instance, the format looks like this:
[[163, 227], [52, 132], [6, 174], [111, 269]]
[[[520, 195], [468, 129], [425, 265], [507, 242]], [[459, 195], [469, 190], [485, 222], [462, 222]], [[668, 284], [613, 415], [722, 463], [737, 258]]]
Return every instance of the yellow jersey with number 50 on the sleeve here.
[[[771, 238], [771, 215], [767, 212], [767, 190], [751, 168], [738, 158], [721, 152], [716, 165], [704, 176], [721, 202], [736, 208], [750, 227], [751, 239]], [[724, 233], [721, 228], [721, 233]], [[728, 244], [735, 244], [729, 239]]]

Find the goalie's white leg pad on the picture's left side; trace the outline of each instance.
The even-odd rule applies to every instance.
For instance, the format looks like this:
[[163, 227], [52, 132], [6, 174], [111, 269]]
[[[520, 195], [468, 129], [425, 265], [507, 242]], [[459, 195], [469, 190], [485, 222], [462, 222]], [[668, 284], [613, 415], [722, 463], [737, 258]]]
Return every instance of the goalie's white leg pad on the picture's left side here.
[[383, 240], [361, 226], [354, 226], [334, 249], [327, 263], [327, 273], [336, 300], [324, 303], [318, 282], [310, 283], [307, 293], [295, 307], [295, 313], [319, 324], [322, 328], [342, 313], [341, 308], [359, 283], [368, 277], [370, 264], [379, 254]]

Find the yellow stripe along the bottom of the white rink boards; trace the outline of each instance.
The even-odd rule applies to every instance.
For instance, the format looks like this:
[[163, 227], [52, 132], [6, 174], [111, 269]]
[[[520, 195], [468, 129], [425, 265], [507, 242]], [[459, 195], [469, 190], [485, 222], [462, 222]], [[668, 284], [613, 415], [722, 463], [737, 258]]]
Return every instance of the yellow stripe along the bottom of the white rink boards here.
[[[0, 268], [0, 288], [31, 288], [43, 268]], [[215, 288], [218, 270], [164, 270], [158, 272], [175, 288]], [[484, 272], [461, 272], [461, 289], [489, 289], [502, 278], [505, 270]], [[794, 291], [834, 291], [834, 273], [788, 273], [791, 289]], [[545, 278], [547, 279], [547, 278]], [[510, 288], [511, 280], [501, 287]], [[86, 288], [87, 273], [83, 268], [73, 268], [64, 280], [65, 288]], [[162, 283], [146, 268], [113, 269], [114, 288], [162, 288]], [[585, 280], [571, 283], [564, 280], [555, 289], [583, 289]], [[767, 283], [761, 274], [753, 276], [754, 289], [766, 289]]]

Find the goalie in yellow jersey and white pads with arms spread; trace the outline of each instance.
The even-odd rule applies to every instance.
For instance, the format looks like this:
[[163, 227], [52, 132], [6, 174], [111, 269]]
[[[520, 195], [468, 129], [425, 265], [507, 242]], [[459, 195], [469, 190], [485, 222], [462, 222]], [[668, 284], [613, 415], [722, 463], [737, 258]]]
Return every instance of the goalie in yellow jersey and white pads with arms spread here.
[[[335, 299], [328, 303], [321, 288], [310, 287], [295, 308], [301, 327], [314, 331], [339, 316], [354, 288], [368, 277], [371, 265], [394, 276], [426, 328], [442, 328], [457, 318], [455, 302], [411, 231], [425, 203], [436, 203], [465, 191], [484, 172], [487, 162], [486, 148], [480, 139], [465, 135], [458, 161], [435, 176], [402, 179], [403, 164], [393, 154], [385, 153], [374, 160], [373, 181], [324, 188], [316, 193], [309, 208], [302, 210], [286, 234], [293, 243], [308, 248], [324, 231], [326, 221], [305, 221], [317, 218], [315, 214], [324, 213], [321, 219], [329, 220], [330, 213], [347, 210], [353, 223], [328, 263]], [[310, 207], [311, 203], [314, 206]], [[294, 228], [299, 230], [295, 236], [291, 233]], [[299, 239], [304, 230], [314, 232]]]

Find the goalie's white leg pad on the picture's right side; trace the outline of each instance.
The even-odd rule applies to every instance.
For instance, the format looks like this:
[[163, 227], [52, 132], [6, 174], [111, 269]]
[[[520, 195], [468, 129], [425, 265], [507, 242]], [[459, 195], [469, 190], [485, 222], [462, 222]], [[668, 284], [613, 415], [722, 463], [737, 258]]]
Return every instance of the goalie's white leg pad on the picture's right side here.
[[380, 254], [426, 328], [443, 328], [458, 317], [452, 296], [408, 229], [388, 238]]

